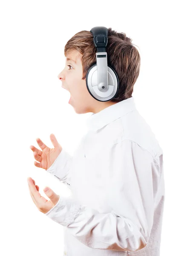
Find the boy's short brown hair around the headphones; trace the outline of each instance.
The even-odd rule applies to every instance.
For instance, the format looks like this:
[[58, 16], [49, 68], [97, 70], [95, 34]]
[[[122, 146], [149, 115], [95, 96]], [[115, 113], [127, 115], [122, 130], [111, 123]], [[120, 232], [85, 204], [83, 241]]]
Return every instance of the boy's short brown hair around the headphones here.
[[[118, 92], [111, 102], [120, 102], [132, 97], [133, 85], [138, 78], [141, 65], [139, 52], [134, 45], [125, 33], [108, 29], [107, 63], [115, 70], [119, 79]], [[66, 43], [64, 55], [72, 50], [78, 50], [82, 54], [82, 79], [86, 79], [89, 67], [96, 64], [97, 49], [93, 43], [92, 33], [86, 30], [76, 33]]]

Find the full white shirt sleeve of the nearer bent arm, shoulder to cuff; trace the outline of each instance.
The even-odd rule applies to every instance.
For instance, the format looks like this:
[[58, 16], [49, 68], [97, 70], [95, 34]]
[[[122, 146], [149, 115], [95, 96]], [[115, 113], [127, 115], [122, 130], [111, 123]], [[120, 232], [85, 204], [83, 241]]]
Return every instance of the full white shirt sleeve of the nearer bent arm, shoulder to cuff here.
[[100, 213], [78, 204], [74, 198], [60, 196], [45, 215], [67, 227], [72, 236], [88, 247], [140, 250], [147, 245], [153, 226], [160, 166], [149, 151], [131, 140], [113, 145], [110, 159], [113, 171], [112, 181], [108, 182], [109, 196], [113, 198], [110, 212]]

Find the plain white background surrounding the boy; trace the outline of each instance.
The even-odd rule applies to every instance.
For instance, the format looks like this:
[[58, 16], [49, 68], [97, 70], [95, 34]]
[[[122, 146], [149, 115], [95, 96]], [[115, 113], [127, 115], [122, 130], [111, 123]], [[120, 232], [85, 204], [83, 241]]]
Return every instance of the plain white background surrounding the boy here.
[[[35, 206], [27, 177], [58, 195], [70, 190], [34, 165], [36, 138], [53, 147], [54, 133], [70, 154], [84, 133], [86, 118], [68, 104], [58, 74], [64, 46], [81, 30], [111, 27], [133, 39], [141, 55], [134, 85], [136, 107], [164, 151], [166, 201], [161, 256], [169, 251], [170, 229], [170, 32], [168, 1], [0, 1], [0, 255], [63, 255], [63, 226]], [[168, 110], [169, 109], [169, 110]], [[40, 148], [39, 148], [40, 149]], [[149, 256], [149, 255], [148, 255]]]

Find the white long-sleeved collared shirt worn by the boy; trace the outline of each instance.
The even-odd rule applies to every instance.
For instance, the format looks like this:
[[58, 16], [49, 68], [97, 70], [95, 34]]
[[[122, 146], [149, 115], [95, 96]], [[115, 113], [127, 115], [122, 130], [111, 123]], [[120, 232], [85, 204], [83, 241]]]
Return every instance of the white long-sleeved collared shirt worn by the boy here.
[[86, 120], [73, 156], [47, 169], [72, 190], [45, 215], [64, 227], [67, 256], [159, 256], [163, 151], [134, 98]]

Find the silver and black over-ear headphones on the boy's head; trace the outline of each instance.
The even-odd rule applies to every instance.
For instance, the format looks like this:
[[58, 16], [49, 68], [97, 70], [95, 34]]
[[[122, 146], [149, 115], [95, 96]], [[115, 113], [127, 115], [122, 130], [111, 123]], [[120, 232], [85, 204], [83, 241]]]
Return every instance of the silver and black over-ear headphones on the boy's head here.
[[118, 75], [107, 64], [108, 29], [104, 26], [96, 26], [90, 32], [93, 34], [97, 52], [96, 64], [92, 65], [86, 74], [86, 87], [94, 99], [106, 102], [115, 98], [119, 87]]

